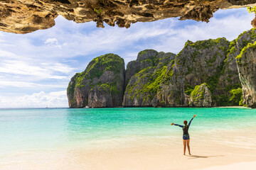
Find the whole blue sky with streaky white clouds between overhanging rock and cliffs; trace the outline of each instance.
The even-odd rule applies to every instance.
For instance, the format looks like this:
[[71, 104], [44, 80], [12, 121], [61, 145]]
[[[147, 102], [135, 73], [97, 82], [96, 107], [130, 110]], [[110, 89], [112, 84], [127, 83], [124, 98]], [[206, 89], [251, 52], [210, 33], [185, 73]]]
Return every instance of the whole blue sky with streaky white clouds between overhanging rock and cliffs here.
[[95, 57], [114, 53], [125, 63], [139, 51], [178, 53], [187, 40], [233, 40], [252, 28], [246, 8], [219, 10], [209, 23], [167, 18], [135, 23], [129, 29], [96, 28], [62, 16], [47, 30], [18, 35], [0, 32], [0, 108], [68, 107], [66, 88], [76, 72]]

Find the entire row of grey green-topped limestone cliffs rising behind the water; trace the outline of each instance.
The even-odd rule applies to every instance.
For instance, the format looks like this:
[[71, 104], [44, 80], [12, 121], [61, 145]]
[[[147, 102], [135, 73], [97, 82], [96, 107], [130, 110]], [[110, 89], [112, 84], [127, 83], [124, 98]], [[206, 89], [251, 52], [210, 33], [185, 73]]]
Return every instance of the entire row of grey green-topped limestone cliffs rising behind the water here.
[[126, 70], [117, 55], [96, 57], [71, 79], [70, 107], [256, 108], [255, 40], [253, 28], [231, 42], [188, 40], [178, 55], [143, 50]]

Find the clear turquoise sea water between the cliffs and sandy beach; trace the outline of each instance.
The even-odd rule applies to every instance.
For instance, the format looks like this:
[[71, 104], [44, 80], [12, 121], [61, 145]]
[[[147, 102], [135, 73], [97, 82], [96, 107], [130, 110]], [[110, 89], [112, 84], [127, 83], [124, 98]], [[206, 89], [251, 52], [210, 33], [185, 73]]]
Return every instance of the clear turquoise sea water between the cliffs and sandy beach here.
[[172, 122], [191, 120], [190, 132], [256, 127], [249, 108], [56, 108], [0, 110], [0, 153], [86, 147], [97, 141], [181, 137]]

